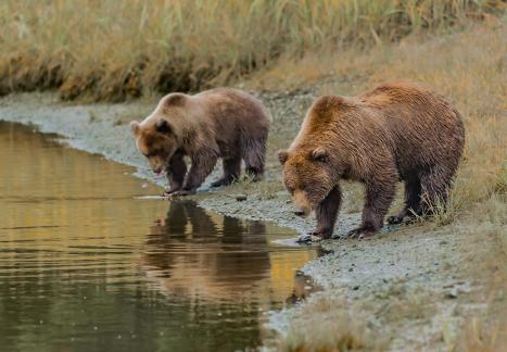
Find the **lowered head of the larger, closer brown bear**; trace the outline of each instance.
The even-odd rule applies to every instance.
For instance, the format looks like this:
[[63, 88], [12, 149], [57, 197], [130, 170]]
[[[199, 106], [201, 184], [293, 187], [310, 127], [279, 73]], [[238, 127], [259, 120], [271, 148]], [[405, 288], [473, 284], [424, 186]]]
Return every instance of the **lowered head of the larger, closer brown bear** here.
[[321, 147], [280, 150], [283, 185], [294, 199], [294, 214], [306, 217], [335, 186], [329, 152]]

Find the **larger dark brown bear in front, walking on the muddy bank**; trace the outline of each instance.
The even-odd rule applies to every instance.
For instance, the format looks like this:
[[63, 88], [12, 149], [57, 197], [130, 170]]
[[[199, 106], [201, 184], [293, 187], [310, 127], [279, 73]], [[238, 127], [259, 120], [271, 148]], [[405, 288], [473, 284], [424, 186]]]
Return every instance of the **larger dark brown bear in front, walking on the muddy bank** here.
[[427, 215], [445, 204], [465, 143], [459, 112], [422, 86], [394, 81], [364, 95], [318, 98], [287, 151], [279, 152], [283, 183], [297, 215], [316, 211], [314, 235], [331, 237], [341, 203], [340, 180], [366, 188], [362, 224], [352, 237], [383, 226], [397, 180], [405, 206], [389, 222]]

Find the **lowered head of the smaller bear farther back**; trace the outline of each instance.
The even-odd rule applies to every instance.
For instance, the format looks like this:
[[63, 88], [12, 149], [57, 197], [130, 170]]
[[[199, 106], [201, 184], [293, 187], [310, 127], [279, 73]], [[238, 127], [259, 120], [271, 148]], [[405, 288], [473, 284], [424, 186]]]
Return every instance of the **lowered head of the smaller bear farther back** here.
[[177, 149], [177, 136], [170, 124], [160, 117], [143, 123], [132, 121], [130, 129], [139, 151], [148, 158], [155, 174], [167, 171], [170, 158]]

